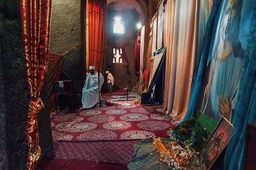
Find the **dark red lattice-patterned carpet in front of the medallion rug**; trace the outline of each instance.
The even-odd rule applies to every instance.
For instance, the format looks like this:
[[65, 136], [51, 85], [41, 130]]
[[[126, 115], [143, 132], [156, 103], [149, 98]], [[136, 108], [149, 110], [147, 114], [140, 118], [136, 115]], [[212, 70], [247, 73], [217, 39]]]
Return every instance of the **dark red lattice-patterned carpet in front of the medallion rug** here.
[[46, 152], [48, 159], [75, 159], [86, 162], [126, 164], [134, 153], [137, 140], [53, 142], [53, 148]]

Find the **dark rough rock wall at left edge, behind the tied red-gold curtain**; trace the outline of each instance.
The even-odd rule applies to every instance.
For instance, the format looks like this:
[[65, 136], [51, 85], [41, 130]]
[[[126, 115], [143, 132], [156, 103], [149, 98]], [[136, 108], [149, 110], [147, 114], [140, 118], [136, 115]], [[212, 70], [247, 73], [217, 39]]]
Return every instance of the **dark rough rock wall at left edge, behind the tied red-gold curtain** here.
[[[26, 169], [26, 122], [28, 86], [23, 64], [21, 23], [18, 1], [1, 1], [0, 7], [0, 169]], [[48, 88], [44, 83], [41, 98], [45, 109], [38, 116], [42, 152], [52, 141]]]

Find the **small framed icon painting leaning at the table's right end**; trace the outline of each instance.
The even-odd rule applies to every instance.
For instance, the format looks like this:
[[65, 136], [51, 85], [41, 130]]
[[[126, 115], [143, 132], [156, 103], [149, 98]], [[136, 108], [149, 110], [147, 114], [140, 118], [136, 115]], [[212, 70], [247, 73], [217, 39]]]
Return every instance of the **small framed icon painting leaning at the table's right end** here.
[[208, 170], [213, 166], [213, 163], [226, 147], [234, 133], [235, 128], [233, 125], [223, 117], [199, 154], [203, 169]]

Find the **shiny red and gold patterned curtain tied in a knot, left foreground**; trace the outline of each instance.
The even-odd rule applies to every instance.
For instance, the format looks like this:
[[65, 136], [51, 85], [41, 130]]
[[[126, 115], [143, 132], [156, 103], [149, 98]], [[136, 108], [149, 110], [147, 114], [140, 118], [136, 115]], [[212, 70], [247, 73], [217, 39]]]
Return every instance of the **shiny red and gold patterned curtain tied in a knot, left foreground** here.
[[36, 169], [41, 157], [37, 116], [44, 108], [40, 92], [48, 64], [51, 1], [20, 0], [19, 3], [24, 65], [30, 94], [26, 125], [27, 166], [28, 169]]

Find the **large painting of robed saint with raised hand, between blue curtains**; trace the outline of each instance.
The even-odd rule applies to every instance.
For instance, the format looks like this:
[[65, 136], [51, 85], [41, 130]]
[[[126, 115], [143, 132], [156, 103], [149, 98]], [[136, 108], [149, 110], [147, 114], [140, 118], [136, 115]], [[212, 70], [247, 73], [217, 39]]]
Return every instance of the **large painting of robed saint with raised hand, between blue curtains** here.
[[235, 112], [244, 56], [239, 37], [241, 8], [240, 0], [223, 1], [210, 49], [210, 73], [201, 111], [216, 122], [223, 116], [232, 121]]

